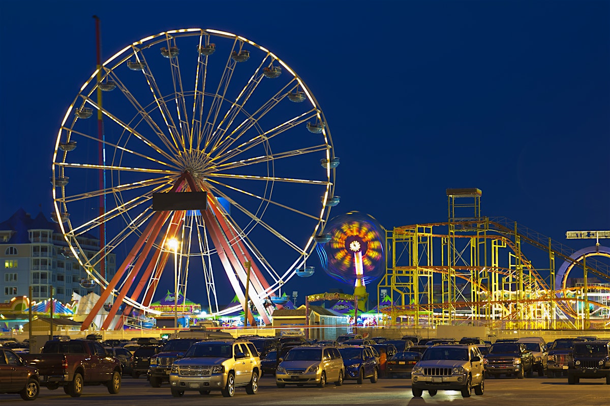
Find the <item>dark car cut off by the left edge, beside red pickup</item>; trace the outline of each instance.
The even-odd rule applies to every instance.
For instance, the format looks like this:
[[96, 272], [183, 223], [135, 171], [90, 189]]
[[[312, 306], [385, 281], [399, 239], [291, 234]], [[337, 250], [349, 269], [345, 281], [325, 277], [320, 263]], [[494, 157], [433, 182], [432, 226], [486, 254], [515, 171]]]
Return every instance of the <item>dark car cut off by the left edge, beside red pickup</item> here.
[[0, 393], [18, 393], [24, 401], [33, 401], [40, 393], [37, 369], [9, 348], [0, 348], [0, 382]]

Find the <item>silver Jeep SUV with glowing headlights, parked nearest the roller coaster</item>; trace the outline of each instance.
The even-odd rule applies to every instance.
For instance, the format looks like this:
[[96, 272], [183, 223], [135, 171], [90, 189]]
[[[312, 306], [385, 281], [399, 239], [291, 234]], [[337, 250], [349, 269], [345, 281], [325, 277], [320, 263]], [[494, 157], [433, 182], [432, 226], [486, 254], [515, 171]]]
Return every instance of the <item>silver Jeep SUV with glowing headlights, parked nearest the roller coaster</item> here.
[[472, 388], [482, 395], [484, 387], [483, 357], [476, 345], [435, 345], [423, 353], [411, 373], [413, 396], [430, 396], [439, 390], [461, 391], [469, 397]]

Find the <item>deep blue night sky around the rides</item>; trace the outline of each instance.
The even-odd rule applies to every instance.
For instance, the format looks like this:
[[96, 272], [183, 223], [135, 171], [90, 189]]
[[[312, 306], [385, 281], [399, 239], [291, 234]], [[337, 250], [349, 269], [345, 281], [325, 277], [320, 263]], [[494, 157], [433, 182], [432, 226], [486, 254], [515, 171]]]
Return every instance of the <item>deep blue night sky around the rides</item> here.
[[[163, 30], [203, 27], [286, 61], [341, 159], [332, 215], [366, 212], [386, 228], [442, 222], [447, 187], [478, 187], [484, 215], [564, 243], [567, 230], [610, 229], [610, 6], [586, 0], [4, 0], [2, 220], [20, 207], [52, 211], [57, 130], [95, 69], [94, 14], [102, 60]], [[302, 301], [329, 281], [317, 273], [287, 290]]]

